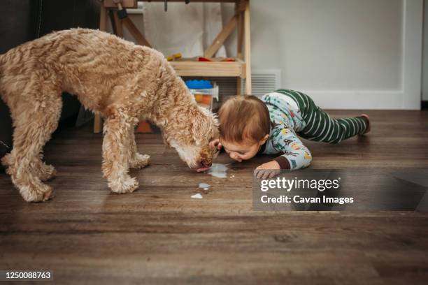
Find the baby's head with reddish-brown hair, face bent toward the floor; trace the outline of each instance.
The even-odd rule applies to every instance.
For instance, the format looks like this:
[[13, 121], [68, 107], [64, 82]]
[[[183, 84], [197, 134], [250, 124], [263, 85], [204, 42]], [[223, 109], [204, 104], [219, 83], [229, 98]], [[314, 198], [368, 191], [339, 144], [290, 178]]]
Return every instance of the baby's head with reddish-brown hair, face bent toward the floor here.
[[220, 143], [231, 159], [243, 161], [257, 154], [269, 137], [269, 110], [256, 96], [234, 96], [218, 111]]

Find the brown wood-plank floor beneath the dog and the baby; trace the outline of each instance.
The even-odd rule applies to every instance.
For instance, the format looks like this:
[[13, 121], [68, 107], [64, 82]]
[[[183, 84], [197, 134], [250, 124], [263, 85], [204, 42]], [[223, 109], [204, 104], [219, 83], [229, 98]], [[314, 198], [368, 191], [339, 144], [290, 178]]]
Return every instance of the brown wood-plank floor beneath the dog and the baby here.
[[[428, 168], [428, 112], [367, 113], [369, 136], [307, 142], [311, 168]], [[192, 172], [159, 135], [137, 136], [152, 163], [132, 171], [138, 191], [115, 195], [101, 139], [88, 125], [48, 142], [47, 203], [24, 203], [0, 173], [0, 270], [53, 270], [55, 284], [428, 284], [427, 213], [254, 212], [252, 168], [269, 157], [220, 179]], [[200, 182], [211, 190], [190, 198]]]

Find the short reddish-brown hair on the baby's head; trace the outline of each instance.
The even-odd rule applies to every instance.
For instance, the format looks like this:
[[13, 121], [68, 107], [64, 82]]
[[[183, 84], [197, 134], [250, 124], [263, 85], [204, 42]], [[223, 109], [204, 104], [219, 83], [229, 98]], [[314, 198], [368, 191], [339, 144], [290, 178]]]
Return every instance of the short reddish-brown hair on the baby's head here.
[[259, 142], [269, 134], [269, 110], [256, 96], [234, 96], [218, 110], [220, 138], [228, 142]]

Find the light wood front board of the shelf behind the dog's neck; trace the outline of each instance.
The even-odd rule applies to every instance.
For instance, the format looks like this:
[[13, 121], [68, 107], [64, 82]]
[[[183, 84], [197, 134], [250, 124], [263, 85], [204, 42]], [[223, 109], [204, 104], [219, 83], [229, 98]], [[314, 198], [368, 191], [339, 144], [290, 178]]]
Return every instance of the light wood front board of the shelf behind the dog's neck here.
[[241, 59], [236, 61], [169, 61], [180, 76], [213, 76], [245, 78], [246, 64]]

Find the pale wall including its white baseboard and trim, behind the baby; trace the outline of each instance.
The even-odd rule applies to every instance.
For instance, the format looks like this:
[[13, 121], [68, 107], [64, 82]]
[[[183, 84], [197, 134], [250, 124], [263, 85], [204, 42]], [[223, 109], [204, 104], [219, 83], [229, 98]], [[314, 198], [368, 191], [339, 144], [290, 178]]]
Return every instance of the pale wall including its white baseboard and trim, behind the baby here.
[[[420, 108], [422, 0], [250, 3], [253, 70], [280, 69], [323, 108]], [[233, 11], [222, 4], [224, 24]], [[236, 34], [226, 47], [236, 54]]]

